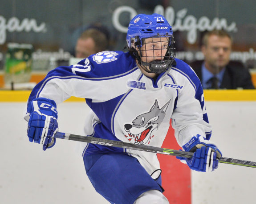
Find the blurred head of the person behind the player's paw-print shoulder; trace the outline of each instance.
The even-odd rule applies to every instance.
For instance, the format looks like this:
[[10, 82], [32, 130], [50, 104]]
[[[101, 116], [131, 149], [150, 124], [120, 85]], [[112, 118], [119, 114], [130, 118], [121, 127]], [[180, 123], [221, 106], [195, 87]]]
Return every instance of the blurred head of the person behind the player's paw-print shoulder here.
[[87, 58], [89, 55], [108, 50], [109, 33], [99, 26], [90, 26], [77, 39], [75, 57]]

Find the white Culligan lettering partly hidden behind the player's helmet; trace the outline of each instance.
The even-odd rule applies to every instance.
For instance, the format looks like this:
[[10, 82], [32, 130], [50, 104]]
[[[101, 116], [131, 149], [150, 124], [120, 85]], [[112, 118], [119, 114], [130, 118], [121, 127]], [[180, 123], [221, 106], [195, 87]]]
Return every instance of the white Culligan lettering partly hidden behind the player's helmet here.
[[[154, 8], [154, 13], [165, 16], [170, 25], [173, 26], [174, 31], [187, 31], [187, 42], [194, 44], [197, 39], [197, 31], [211, 31], [213, 29], [224, 29], [229, 32], [236, 32], [236, 22], [228, 24], [225, 18], [213, 18], [209, 19], [207, 16], [201, 16], [196, 18], [193, 15], [187, 15], [187, 8], [183, 8], [175, 13], [174, 8], [167, 7], [165, 10], [163, 6], [157, 5]], [[130, 13], [130, 19], [136, 16], [138, 13], [130, 6], [120, 6], [114, 10], [112, 16], [112, 22], [114, 27], [123, 33], [127, 32], [128, 27], [122, 26], [119, 22], [120, 16], [123, 12]]]

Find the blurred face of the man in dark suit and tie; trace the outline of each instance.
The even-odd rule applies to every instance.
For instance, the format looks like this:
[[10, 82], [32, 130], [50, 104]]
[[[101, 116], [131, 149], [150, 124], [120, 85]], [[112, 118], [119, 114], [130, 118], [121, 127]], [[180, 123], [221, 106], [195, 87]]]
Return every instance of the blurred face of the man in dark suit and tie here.
[[215, 70], [218, 73], [228, 64], [231, 44], [231, 39], [228, 37], [209, 36], [207, 46], [202, 47], [202, 52], [206, 67], [211, 67], [210, 71]]

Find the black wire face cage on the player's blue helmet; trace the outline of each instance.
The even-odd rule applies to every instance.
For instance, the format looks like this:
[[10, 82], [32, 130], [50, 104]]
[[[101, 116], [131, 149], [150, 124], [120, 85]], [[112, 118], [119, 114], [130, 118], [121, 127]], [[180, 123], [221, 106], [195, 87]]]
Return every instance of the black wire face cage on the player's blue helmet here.
[[[146, 72], [160, 74], [167, 71], [175, 62], [175, 41], [173, 36], [170, 35], [163, 35], [161, 38], [159, 36], [157, 36], [158, 38], [155, 37], [156, 36], [153, 36], [152, 41], [149, 43], [145, 43], [145, 38], [140, 40], [138, 36], [136, 36], [134, 43], [135, 48], [130, 47], [129, 51]], [[153, 38], [159, 40], [153, 40]], [[155, 53], [158, 53], [158, 55]], [[142, 61], [141, 57], [146, 58], [146, 62]]]

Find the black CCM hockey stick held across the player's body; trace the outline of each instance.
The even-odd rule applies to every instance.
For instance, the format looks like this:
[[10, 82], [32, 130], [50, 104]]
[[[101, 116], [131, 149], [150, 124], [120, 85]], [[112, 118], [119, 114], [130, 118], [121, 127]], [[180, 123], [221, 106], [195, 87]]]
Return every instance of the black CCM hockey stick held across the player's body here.
[[[82, 141], [82, 142], [88, 142], [88, 143], [97, 144], [97, 145], [106, 145], [106, 146], [120, 147], [120, 148], [126, 148], [126, 149], [134, 149], [134, 150], [151, 152], [151, 153], [167, 154], [167, 155], [178, 156], [178, 157], [190, 158], [193, 156], [193, 153], [191, 152], [184, 152], [180, 150], [166, 149], [166, 148], [153, 147], [153, 146], [147, 146], [147, 145], [138, 145], [138, 144], [133, 144], [128, 142], [107, 140], [107, 139], [96, 138], [96, 137], [86, 137], [86, 136], [69, 134], [69, 133], [57, 132], [55, 133], [54, 138], [73, 140], [73, 141]], [[225, 163], [225, 164], [231, 164], [231, 165], [240, 165], [240, 166], [248, 166], [248, 167], [256, 168], [256, 162], [254, 161], [245, 161], [245, 160], [221, 157], [219, 159], [219, 162]]]

